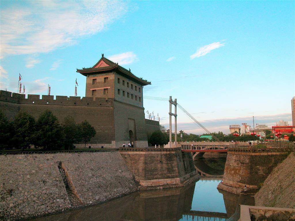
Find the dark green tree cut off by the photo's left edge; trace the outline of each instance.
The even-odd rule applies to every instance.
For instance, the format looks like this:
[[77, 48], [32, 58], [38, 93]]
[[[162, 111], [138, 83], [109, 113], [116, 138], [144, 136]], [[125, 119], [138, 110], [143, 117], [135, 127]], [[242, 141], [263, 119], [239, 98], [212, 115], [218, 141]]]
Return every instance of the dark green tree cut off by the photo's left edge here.
[[4, 113], [0, 110], [0, 149], [9, 148], [9, 140], [13, 134], [13, 127], [11, 123], [4, 116]]

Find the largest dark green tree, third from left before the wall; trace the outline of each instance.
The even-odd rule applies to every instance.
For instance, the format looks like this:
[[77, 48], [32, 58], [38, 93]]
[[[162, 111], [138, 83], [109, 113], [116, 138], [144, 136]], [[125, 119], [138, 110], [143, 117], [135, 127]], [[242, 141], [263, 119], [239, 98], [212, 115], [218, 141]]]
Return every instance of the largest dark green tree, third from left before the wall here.
[[58, 119], [45, 110], [36, 122], [34, 145], [45, 150], [59, 150], [64, 143], [64, 133]]

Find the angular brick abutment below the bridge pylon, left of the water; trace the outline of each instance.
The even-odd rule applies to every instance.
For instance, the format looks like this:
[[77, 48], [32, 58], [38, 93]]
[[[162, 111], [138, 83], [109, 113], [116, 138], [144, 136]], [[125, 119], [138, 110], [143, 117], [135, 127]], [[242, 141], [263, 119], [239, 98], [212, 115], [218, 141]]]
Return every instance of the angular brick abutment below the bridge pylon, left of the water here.
[[191, 154], [180, 148], [120, 148], [119, 152], [142, 189], [184, 186], [200, 177]]

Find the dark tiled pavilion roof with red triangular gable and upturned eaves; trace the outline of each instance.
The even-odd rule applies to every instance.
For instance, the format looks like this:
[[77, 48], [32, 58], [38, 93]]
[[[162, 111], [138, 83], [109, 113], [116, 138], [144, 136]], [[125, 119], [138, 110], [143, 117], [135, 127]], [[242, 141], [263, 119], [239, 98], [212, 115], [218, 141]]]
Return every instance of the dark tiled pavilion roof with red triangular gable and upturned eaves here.
[[106, 73], [110, 71], [116, 71], [117, 73], [123, 75], [124, 77], [127, 77], [141, 85], [150, 85], [151, 83], [147, 80], [143, 80], [142, 78], [136, 77], [134, 74], [132, 74], [131, 70], [127, 70], [124, 67], [120, 66], [118, 63], [114, 63], [111, 60], [104, 57], [104, 54], [101, 55], [101, 59], [89, 68], [82, 68], [77, 69], [76, 72], [84, 75], [87, 77], [89, 74], [101, 74]]

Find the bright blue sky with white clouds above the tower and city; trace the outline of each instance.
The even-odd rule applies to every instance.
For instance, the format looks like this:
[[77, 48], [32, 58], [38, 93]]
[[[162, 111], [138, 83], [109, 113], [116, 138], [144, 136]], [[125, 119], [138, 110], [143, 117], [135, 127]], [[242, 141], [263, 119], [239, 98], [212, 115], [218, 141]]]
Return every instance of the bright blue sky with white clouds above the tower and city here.
[[[294, 1], [0, 1], [1, 90], [85, 96], [104, 56], [177, 98], [209, 131], [230, 124], [291, 125]], [[144, 99], [168, 127], [168, 102]], [[203, 133], [178, 109], [178, 129]]]

